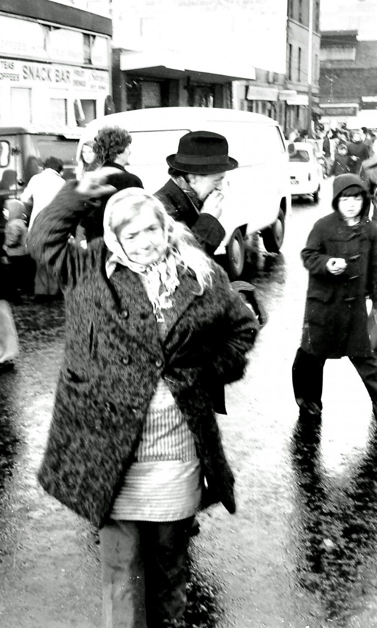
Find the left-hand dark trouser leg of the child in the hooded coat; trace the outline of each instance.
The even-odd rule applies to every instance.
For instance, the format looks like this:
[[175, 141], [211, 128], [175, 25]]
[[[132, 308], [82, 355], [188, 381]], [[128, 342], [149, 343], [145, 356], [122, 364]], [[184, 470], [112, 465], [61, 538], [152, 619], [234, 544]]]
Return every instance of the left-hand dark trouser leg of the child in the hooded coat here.
[[322, 384], [325, 359], [309, 354], [301, 348], [292, 366], [292, 382], [295, 399], [300, 409], [312, 414], [322, 410]]

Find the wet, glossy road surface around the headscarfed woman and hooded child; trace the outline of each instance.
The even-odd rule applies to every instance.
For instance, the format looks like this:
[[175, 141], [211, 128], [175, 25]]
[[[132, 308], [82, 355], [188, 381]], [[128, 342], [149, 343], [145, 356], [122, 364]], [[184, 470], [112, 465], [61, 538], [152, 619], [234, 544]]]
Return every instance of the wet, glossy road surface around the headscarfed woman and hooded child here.
[[[307, 273], [300, 249], [330, 207], [293, 203], [279, 256], [248, 277], [269, 321], [219, 422], [238, 512], [200, 515], [179, 628], [377, 627], [377, 426], [347, 359], [328, 360], [322, 426], [297, 424], [291, 367]], [[96, 531], [43, 493], [43, 452], [63, 350], [61, 303], [14, 306], [21, 355], [0, 376], [0, 627], [99, 628]]]

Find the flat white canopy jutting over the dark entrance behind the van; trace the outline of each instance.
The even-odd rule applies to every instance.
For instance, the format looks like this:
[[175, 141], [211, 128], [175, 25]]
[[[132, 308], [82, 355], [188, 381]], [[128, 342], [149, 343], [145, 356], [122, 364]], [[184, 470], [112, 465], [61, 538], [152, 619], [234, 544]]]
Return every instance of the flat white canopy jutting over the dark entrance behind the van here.
[[229, 58], [181, 55], [172, 51], [126, 50], [120, 56], [120, 69], [150, 77], [190, 77], [205, 82], [224, 83], [242, 78], [255, 80], [255, 68]]

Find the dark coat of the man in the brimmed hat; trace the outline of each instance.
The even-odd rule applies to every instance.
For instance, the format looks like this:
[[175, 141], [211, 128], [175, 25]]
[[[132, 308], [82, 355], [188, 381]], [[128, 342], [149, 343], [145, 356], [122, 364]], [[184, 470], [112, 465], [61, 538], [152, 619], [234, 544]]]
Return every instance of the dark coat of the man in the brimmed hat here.
[[219, 220], [210, 214], [200, 214], [190, 197], [172, 179], [155, 192], [155, 197], [174, 220], [187, 225], [204, 251], [212, 256], [225, 236]]

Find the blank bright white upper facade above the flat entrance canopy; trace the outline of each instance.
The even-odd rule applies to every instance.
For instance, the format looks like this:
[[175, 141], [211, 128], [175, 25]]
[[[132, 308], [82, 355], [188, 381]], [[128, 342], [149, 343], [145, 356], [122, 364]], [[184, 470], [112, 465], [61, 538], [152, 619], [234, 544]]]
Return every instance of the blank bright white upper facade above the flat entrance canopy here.
[[[234, 65], [285, 73], [287, 3], [283, 0], [212, 0], [175, 3], [112, 3], [112, 43], [139, 50], [177, 51], [195, 56], [219, 54]], [[131, 28], [132, 27], [132, 28]], [[136, 37], [134, 33], [139, 33]], [[131, 37], [131, 40], [130, 40]]]

